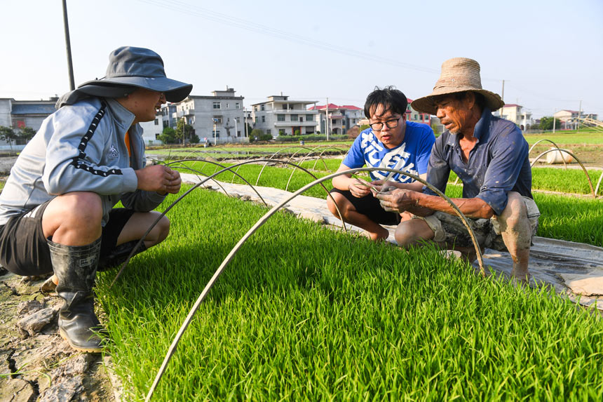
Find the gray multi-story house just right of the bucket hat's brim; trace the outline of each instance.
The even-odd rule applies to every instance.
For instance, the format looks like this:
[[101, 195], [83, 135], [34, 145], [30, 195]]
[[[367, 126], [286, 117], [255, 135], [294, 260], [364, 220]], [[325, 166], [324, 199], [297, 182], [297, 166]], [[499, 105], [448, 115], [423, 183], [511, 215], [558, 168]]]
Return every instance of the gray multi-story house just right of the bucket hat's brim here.
[[175, 103], [171, 126], [183, 119], [194, 128], [201, 142], [247, 142], [245, 137], [243, 97], [235, 96], [234, 88], [213, 91], [212, 96], [189, 95]]

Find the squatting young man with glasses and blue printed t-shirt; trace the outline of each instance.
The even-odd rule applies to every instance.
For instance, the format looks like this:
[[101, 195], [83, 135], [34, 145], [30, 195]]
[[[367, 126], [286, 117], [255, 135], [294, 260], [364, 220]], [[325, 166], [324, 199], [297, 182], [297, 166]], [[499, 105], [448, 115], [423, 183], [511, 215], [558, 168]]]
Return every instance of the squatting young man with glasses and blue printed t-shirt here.
[[[406, 121], [407, 105], [406, 96], [391, 86], [370, 93], [365, 102], [365, 116], [370, 121], [370, 128], [358, 135], [337, 171], [366, 165], [401, 170], [426, 178], [435, 136], [426, 124]], [[370, 183], [350, 174], [333, 179], [331, 194], [342, 217], [346, 222], [365, 229], [374, 241], [388, 237], [388, 230], [381, 225], [398, 225], [402, 219], [400, 213], [381, 208], [379, 200], [371, 192], [372, 188], [380, 190], [388, 175], [388, 171], [374, 170], [370, 173]], [[414, 191], [423, 188], [420, 182], [399, 173], [389, 179], [387, 186]], [[327, 197], [327, 206], [333, 215], [339, 217], [331, 197]]]

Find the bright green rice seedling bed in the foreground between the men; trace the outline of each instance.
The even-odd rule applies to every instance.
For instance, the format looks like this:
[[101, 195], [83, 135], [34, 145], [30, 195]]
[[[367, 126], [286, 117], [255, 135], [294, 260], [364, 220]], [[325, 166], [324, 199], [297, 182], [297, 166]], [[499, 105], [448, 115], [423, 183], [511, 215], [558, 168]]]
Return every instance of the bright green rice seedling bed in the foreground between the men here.
[[[264, 213], [196, 189], [116, 286], [100, 274], [128, 399], [144, 398], [201, 289]], [[601, 400], [602, 352], [599, 315], [553, 290], [277, 213], [201, 304], [153, 400]]]

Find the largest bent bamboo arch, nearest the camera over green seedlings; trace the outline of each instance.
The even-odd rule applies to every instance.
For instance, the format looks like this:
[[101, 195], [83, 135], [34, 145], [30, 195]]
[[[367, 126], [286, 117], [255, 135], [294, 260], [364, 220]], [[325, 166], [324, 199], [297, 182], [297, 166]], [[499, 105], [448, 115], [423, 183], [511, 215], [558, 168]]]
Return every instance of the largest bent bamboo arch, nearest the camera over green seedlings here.
[[482, 273], [482, 276], [485, 276], [484, 261], [482, 259], [482, 253], [480, 250], [480, 246], [477, 243], [477, 240], [475, 239], [475, 233], [473, 233], [473, 229], [471, 229], [467, 218], [465, 217], [465, 215], [463, 215], [463, 213], [461, 212], [459, 207], [456, 206], [452, 202], [452, 200], [448, 198], [448, 196], [446, 196], [444, 193], [440, 192], [440, 190], [435, 188], [433, 185], [430, 185], [428, 182], [421, 179], [421, 177], [412, 175], [411, 173], [402, 172], [401, 170], [384, 169], [384, 168], [355, 168], [355, 169], [344, 170], [341, 172], [333, 173], [332, 175], [327, 175], [325, 177], [321, 177], [320, 179], [314, 180], [313, 182], [309, 183], [308, 185], [305, 185], [301, 189], [297, 190], [297, 192], [294, 192], [292, 194], [292, 196], [285, 199], [284, 201], [281, 201], [278, 205], [273, 206], [273, 208], [271, 210], [269, 210], [263, 217], [261, 217], [259, 220], [257, 220], [257, 222], [255, 222], [255, 225], [253, 225], [248, 230], [248, 232], [231, 249], [230, 253], [228, 255], [226, 255], [226, 257], [222, 261], [222, 264], [220, 264], [220, 266], [217, 268], [216, 272], [214, 273], [214, 275], [212, 276], [212, 278], [210, 279], [208, 284], [205, 286], [205, 288], [201, 292], [201, 295], [199, 295], [199, 297], [197, 298], [195, 304], [189, 311], [187, 318], [184, 319], [184, 323], [182, 323], [182, 326], [179, 328], [178, 333], [174, 337], [174, 340], [172, 341], [172, 344], [170, 345], [170, 348], [168, 349], [168, 353], [165, 355], [165, 358], [163, 359], [163, 363], [161, 364], [161, 367], [158, 370], [155, 380], [154, 380], [153, 384], [151, 385], [151, 388], [149, 389], [149, 393], [147, 394], [147, 397], [144, 399], [146, 402], [151, 400], [151, 397], [153, 396], [153, 393], [157, 387], [157, 384], [161, 380], [163, 373], [165, 373], [165, 369], [168, 367], [168, 363], [170, 363], [170, 359], [172, 358], [172, 355], [175, 354], [178, 343], [179, 343], [180, 339], [182, 338], [182, 335], [184, 335], [184, 331], [187, 330], [187, 328], [189, 327], [189, 324], [191, 323], [194, 315], [196, 314], [196, 311], [201, 306], [201, 303], [203, 302], [203, 300], [205, 300], [205, 297], [208, 295], [209, 291], [211, 290], [212, 286], [219, 278], [220, 274], [222, 274], [222, 272], [224, 272], [224, 269], [226, 268], [226, 266], [229, 264], [229, 262], [231, 262], [231, 260], [236, 255], [236, 253], [238, 252], [240, 247], [243, 246], [245, 241], [247, 241], [250, 238], [250, 236], [252, 234], [254, 234], [257, 231], [257, 229], [259, 229], [259, 227], [264, 225], [264, 223], [272, 215], [274, 215], [274, 213], [276, 213], [276, 211], [278, 211], [280, 208], [282, 208], [287, 202], [291, 201], [296, 196], [298, 196], [299, 194], [302, 194], [303, 192], [305, 192], [307, 189], [313, 187], [314, 185], [322, 183], [325, 180], [330, 180], [333, 177], [337, 177], [338, 175], [353, 174], [353, 173], [357, 173], [360, 171], [372, 171], [372, 170], [381, 170], [381, 171], [386, 170], [386, 171], [393, 172], [393, 173], [400, 173], [400, 174], [408, 175], [409, 177], [412, 177], [414, 180], [417, 180], [417, 181], [421, 182], [423, 185], [426, 185], [428, 188], [433, 190], [440, 197], [445, 199], [447, 201], [447, 203], [449, 203], [449, 205], [454, 209], [454, 211], [456, 212], [456, 215], [459, 215], [459, 217], [461, 218], [461, 221], [463, 222], [463, 225], [465, 225], [465, 227], [467, 228], [467, 230], [470, 234], [470, 237], [471, 237], [471, 241], [473, 241], [473, 246], [475, 247], [475, 252], [477, 253], [477, 260], [480, 264], [480, 272]]

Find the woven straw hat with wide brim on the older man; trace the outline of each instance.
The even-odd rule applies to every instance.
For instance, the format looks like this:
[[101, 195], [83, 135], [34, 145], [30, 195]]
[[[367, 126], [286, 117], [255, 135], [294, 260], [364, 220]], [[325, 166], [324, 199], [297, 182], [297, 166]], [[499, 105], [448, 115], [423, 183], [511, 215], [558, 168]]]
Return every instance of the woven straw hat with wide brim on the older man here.
[[430, 95], [414, 100], [411, 103], [417, 112], [435, 114], [434, 98], [448, 93], [473, 91], [484, 95], [486, 105], [494, 112], [505, 105], [497, 93], [482, 88], [480, 79], [480, 63], [468, 58], [452, 58], [442, 63], [440, 79], [435, 83]]

